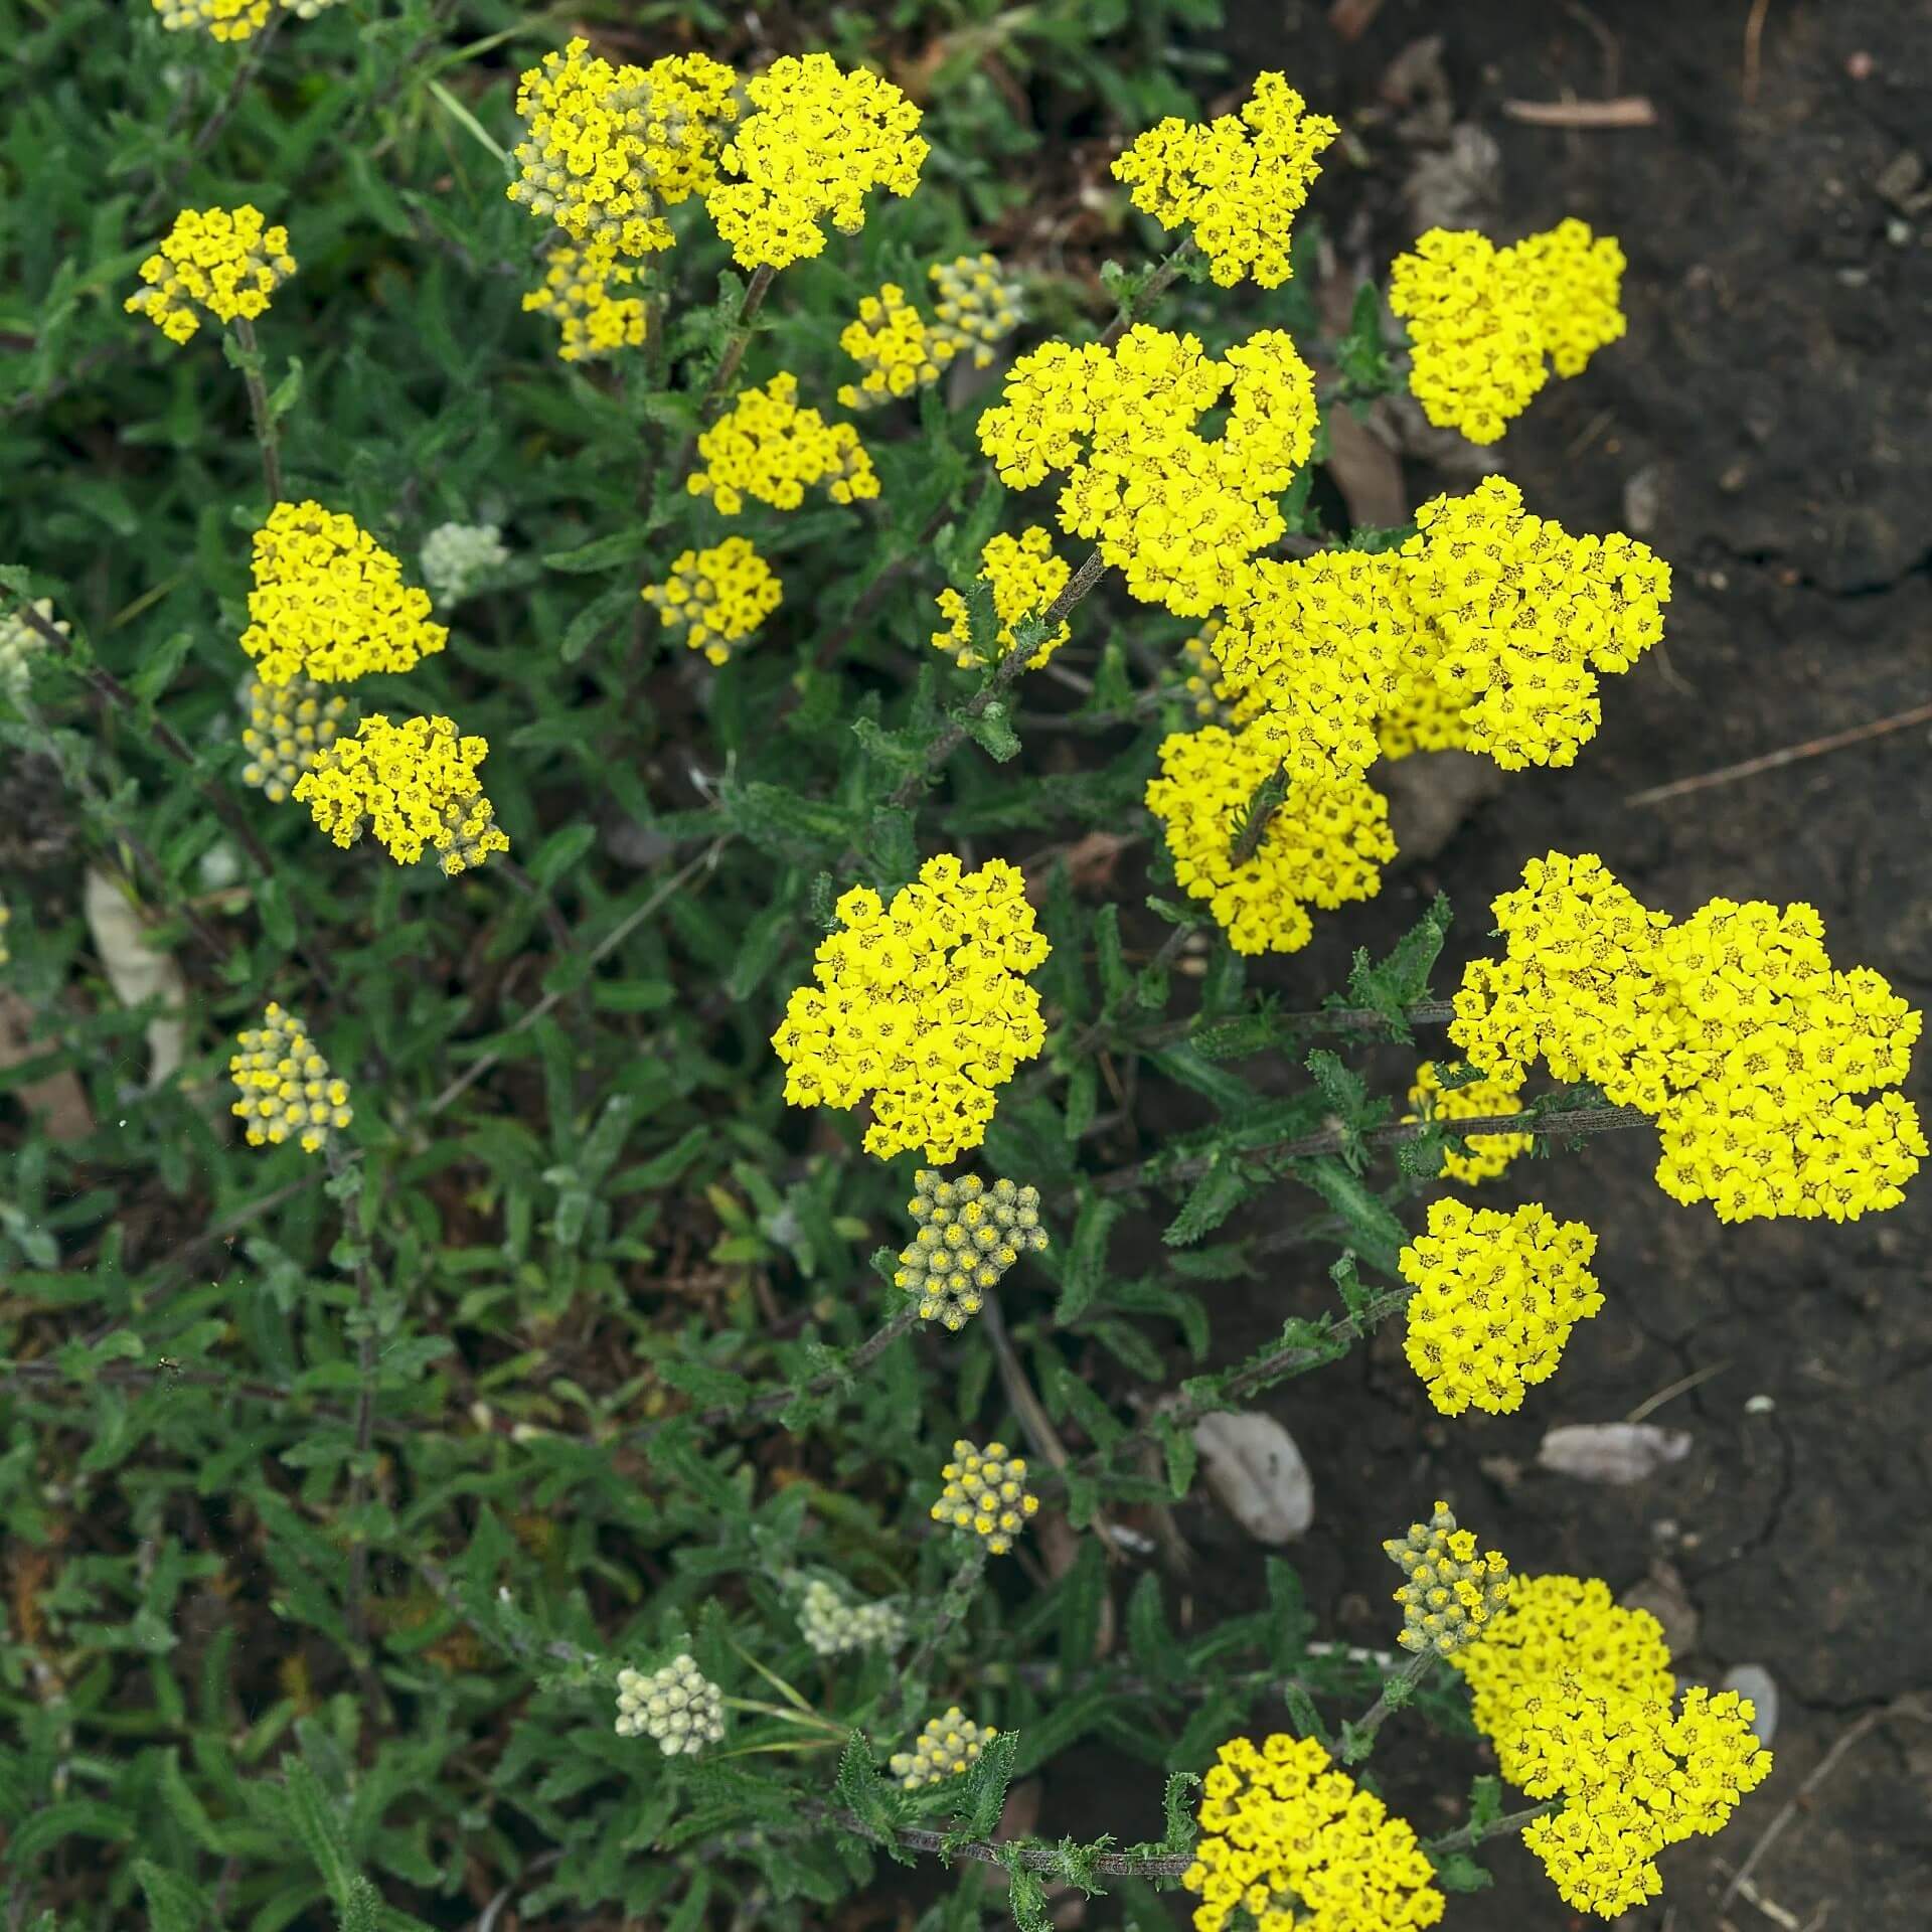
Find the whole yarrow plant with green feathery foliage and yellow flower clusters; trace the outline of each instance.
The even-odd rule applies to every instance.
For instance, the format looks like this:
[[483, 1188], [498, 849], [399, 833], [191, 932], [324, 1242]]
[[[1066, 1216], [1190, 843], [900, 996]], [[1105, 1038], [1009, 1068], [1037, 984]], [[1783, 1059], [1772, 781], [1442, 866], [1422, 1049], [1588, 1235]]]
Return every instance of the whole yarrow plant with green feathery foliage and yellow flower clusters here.
[[[1445, 898], [1314, 966], [1428, 761], [1557, 784], [1654, 674], [1669, 526], [1337, 487], [1405, 384], [1493, 442], [1592, 379], [1621, 243], [1434, 232], [1337, 288], [1370, 230], [1287, 71], [1171, 114], [1163, 8], [1103, 85], [1109, 10], [846, 10], [837, 58], [811, 12], [520, 79], [435, 8], [164, 0], [253, 44], [133, 91], [147, 10], [27, 48], [0, 1835], [43, 1932], [802, 1932], [883, 1859], [945, 1861], [918, 1932], [1115, 1888], [1095, 1924], [1389, 1932], [1519, 1835], [1609, 1917], [1772, 1772], [1770, 1710], [1383, 1437], [1534, 1414], [1640, 1320], [1611, 1219], [1490, 1206], [1530, 1155], [1654, 1132], [1660, 1215], [1853, 1265], [1832, 1223], [1926, 1155], [1918, 1012], [1806, 904], [1565, 852], [1449, 985]], [[1049, 97], [1111, 160], [1065, 211]], [[247, 415], [149, 323], [213, 327]], [[1242, 1553], [1229, 1472], [1383, 1323], [1418, 1401], [1298, 1435], [1329, 1594], [1401, 1571], [1393, 1656]], [[1374, 1524], [1335, 1443], [1387, 1451]], [[1157, 1843], [1061, 1835], [1142, 1764]]]

